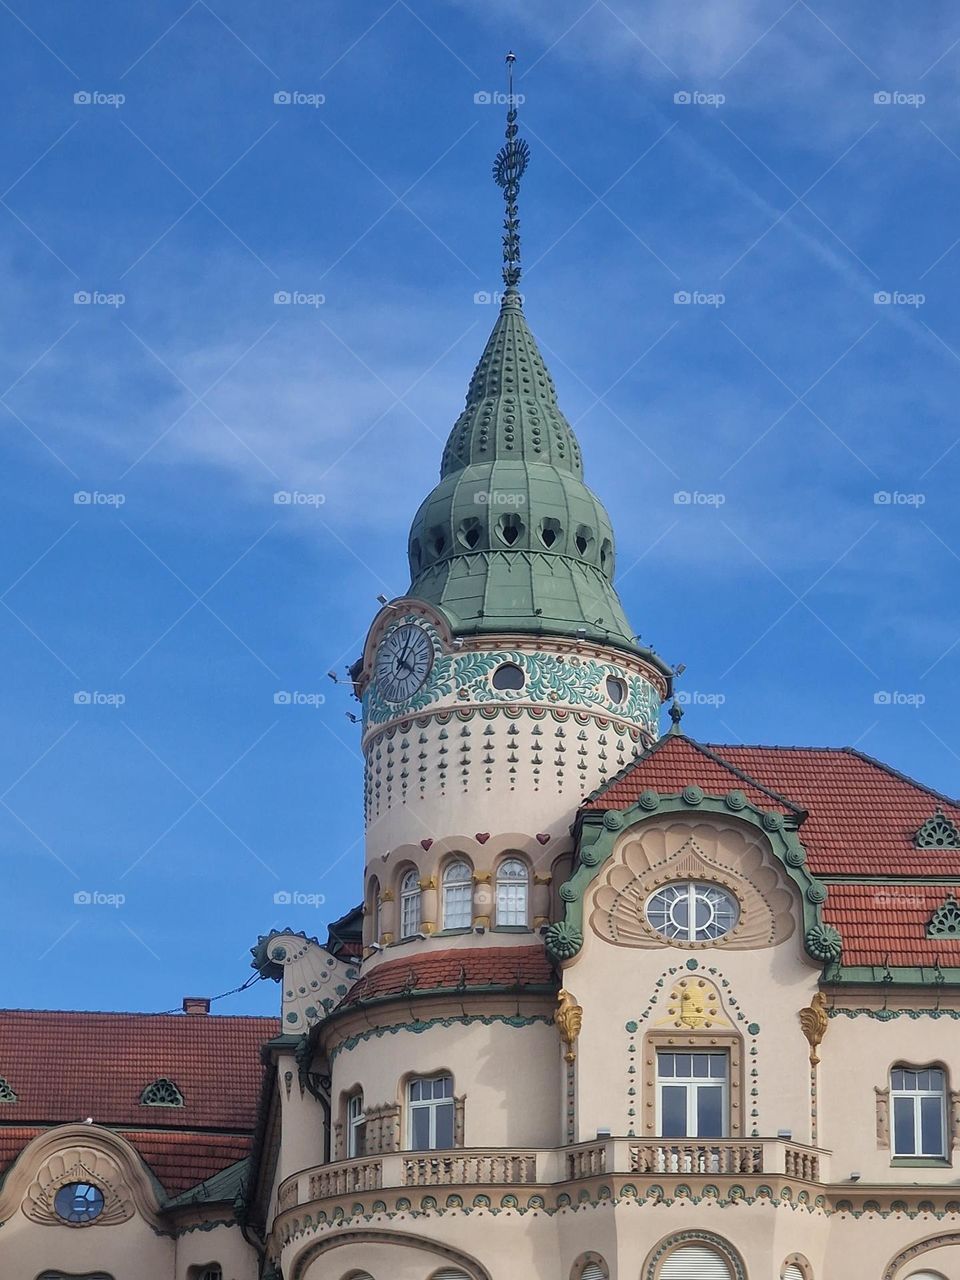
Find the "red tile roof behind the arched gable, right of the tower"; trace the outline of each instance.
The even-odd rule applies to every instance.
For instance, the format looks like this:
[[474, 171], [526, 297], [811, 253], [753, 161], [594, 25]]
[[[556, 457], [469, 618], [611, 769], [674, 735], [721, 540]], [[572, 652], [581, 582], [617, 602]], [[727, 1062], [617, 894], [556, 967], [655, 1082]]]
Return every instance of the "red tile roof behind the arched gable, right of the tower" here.
[[[800, 840], [815, 876], [956, 877], [956, 850], [914, 849], [918, 827], [940, 806], [960, 827], [960, 804], [854, 748], [732, 746], [667, 735], [586, 801], [626, 808], [648, 787], [708, 794], [733, 787], [760, 809], [805, 813]], [[831, 883], [824, 920], [844, 937], [845, 965], [960, 966], [960, 941], [928, 940], [927, 924], [956, 886]]]

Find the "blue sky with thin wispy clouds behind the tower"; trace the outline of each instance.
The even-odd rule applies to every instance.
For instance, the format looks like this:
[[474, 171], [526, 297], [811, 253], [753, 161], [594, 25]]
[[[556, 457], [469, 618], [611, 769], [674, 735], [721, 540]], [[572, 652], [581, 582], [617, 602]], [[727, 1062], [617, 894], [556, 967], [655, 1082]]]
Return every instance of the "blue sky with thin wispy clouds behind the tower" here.
[[527, 317], [685, 728], [960, 790], [955, 6], [12, 0], [0, 40], [6, 1004], [178, 1007], [357, 899], [325, 673], [494, 321], [508, 47]]

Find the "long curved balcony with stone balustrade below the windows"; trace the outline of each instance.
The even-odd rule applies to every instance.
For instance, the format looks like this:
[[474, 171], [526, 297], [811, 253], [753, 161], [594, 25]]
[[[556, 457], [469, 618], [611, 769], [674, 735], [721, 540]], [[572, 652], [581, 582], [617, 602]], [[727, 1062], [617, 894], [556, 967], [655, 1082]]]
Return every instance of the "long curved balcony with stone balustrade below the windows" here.
[[545, 1149], [399, 1151], [306, 1169], [280, 1184], [280, 1212], [337, 1197], [404, 1188], [543, 1188], [591, 1178], [763, 1174], [791, 1181], [828, 1179], [828, 1153], [780, 1138], [663, 1142], [607, 1138]]

